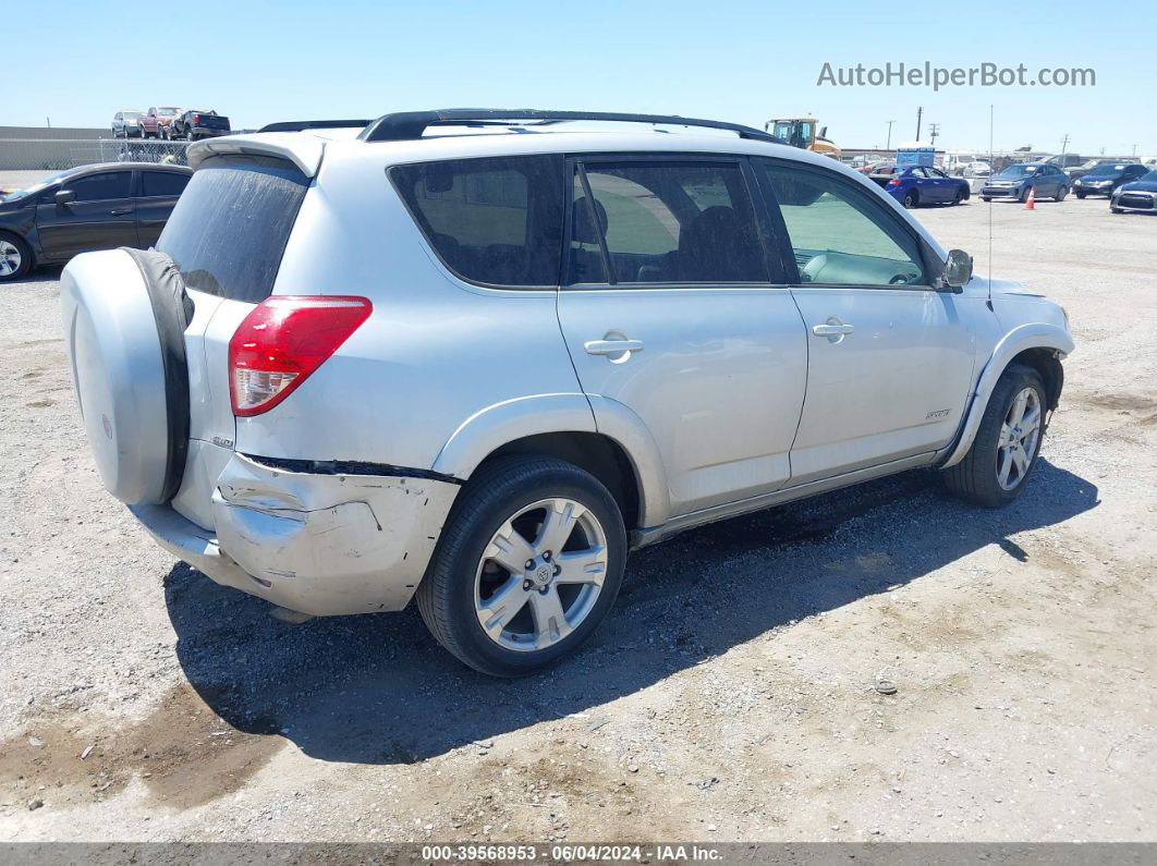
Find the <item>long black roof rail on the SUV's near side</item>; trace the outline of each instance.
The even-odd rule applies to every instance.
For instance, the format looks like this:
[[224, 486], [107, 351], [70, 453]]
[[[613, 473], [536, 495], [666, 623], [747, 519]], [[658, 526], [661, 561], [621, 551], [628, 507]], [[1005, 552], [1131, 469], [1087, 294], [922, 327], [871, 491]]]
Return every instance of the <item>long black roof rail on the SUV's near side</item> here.
[[[725, 129], [740, 139], [768, 141], [786, 145], [762, 129], [722, 120], [701, 120], [678, 114], [625, 114], [607, 111], [546, 111], [543, 109], [441, 109], [439, 111], [403, 111], [383, 114], [371, 120], [358, 138], [363, 141], [413, 141], [420, 139], [432, 126], [502, 126], [513, 120], [535, 120], [536, 125], [554, 124], [563, 120], [598, 120], [629, 124], [664, 124], [670, 126], [700, 126], [708, 129]], [[264, 129], [263, 129], [264, 132]]]

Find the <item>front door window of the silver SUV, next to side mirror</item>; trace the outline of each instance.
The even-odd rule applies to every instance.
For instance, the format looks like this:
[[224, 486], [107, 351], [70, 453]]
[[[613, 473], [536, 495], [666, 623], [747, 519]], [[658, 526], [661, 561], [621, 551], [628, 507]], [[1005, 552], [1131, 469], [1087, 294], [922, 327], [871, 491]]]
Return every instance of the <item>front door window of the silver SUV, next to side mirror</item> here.
[[758, 160], [778, 201], [799, 280], [830, 286], [927, 286], [919, 246], [878, 201], [826, 172]]

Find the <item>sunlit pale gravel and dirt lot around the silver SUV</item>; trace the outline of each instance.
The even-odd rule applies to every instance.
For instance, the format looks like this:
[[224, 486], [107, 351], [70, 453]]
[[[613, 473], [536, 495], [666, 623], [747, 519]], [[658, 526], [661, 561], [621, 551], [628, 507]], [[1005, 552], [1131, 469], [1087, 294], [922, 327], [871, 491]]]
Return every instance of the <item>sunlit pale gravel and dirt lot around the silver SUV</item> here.
[[[987, 206], [918, 215], [987, 271]], [[516, 682], [175, 563], [97, 480], [56, 274], [3, 287], [0, 838], [1157, 839], [1157, 220], [993, 217], [1078, 340], [1015, 506], [912, 473], [683, 535]]]

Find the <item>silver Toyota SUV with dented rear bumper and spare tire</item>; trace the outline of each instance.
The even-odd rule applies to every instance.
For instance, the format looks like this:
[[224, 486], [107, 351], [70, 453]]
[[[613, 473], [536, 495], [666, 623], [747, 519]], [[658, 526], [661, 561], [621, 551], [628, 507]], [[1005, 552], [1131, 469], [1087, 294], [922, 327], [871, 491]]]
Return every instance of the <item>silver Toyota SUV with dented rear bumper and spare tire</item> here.
[[61, 279], [105, 486], [219, 584], [417, 597], [515, 675], [590, 637], [632, 548], [921, 466], [996, 506], [1032, 471], [1064, 312], [832, 160], [673, 117], [316, 126], [193, 145], [157, 249]]

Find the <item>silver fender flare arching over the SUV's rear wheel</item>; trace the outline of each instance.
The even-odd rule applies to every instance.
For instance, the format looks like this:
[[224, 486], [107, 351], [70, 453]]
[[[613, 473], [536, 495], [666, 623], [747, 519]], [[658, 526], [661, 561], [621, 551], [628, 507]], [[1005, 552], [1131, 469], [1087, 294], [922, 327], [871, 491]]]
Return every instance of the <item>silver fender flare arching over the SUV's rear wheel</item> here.
[[503, 445], [552, 432], [602, 434], [618, 444], [635, 473], [642, 525], [657, 526], [666, 520], [670, 493], [655, 438], [639, 415], [604, 397], [536, 394], [487, 406], [458, 425], [430, 468], [466, 480]]

